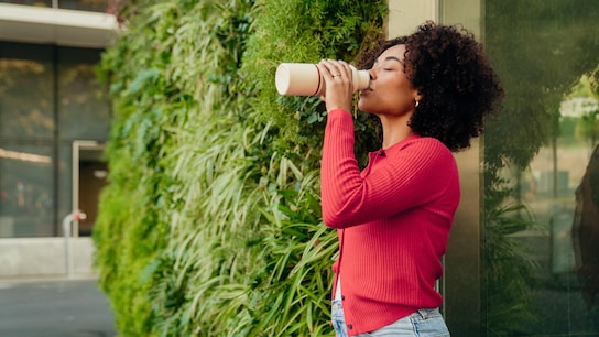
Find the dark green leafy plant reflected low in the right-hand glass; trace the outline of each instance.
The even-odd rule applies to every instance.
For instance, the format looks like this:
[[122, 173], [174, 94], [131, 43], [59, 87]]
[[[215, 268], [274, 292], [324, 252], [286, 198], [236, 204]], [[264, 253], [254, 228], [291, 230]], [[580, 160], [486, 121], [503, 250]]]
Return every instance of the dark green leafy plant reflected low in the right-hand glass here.
[[511, 191], [505, 182], [494, 181], [495, 191], [484, 198], [484, 237], [482, 250], [482, 326], [486, 336], [514, 334], [525, 322], [536, 317], [530, 308], [530, 289], [538, 265], [514, 235], [535, 228], [535, 219], [518, 200], [507, 202]]

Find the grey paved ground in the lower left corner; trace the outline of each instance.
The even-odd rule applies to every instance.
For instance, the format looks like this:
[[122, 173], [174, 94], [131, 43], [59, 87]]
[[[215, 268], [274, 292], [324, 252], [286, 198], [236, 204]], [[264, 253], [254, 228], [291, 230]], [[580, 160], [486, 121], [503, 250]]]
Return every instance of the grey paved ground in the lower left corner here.
[[97, 279], [0, 280], [0, 336], [116, 336]]

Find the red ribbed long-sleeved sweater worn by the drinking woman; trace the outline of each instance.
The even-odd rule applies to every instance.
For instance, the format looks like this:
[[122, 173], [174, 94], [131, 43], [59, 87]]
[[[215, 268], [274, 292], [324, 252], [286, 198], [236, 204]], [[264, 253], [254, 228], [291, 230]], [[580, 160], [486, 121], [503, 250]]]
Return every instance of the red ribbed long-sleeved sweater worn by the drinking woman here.
[[[370, 153], [360, 172], [353, 121], [327, 117], [322, 162], [324, 222], [338, 230], [341, 292], [350, 336], [435, 308], [449, 228], [459, 203], [458, 170], [438, 140], [411, 135]], [[336, 291], [334, 282], [333, 294]]]

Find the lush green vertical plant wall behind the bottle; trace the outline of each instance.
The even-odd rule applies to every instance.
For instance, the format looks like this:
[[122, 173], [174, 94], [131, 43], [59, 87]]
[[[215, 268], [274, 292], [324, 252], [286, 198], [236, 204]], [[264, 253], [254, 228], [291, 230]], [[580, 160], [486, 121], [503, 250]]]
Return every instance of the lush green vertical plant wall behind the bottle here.
[[[113, 123], [94, 239], [122, 336], [330, 336], [324, 106], [281, 62], [353, 61], [385, 1], [132, 1], [104, 55]], [[363, 133], [366, 120], [358, 119]]]

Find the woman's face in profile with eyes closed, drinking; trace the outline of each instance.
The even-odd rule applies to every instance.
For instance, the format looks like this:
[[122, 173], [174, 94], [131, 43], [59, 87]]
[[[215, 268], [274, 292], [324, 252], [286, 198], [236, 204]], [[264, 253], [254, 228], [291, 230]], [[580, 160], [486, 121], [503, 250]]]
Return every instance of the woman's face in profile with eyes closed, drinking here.
[[385, 50], [370, 69], [370, 87], [360, 91], [358, 108], [374, 115], [402, 116], [414, 111], [420, 95], [405, 76], [405, 45]]

